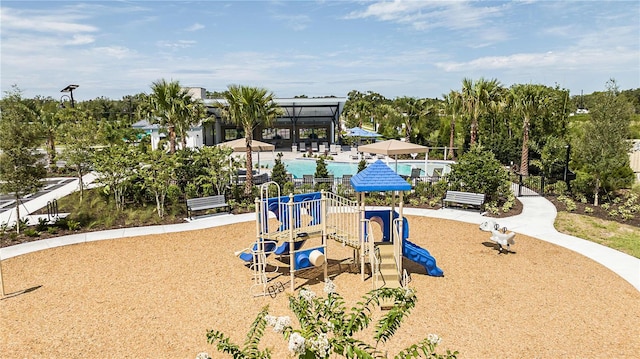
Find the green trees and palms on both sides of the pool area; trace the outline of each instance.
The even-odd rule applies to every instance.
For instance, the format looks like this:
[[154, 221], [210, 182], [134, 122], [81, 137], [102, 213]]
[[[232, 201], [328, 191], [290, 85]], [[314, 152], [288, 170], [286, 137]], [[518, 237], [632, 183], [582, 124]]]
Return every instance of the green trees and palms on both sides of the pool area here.
[[[573, 188], [597, 204], [599, 196], [633, 183], [627, 140], [640, 135], [640, 89], [620, 91], [615, 80], [605, 87], [602, 92], [571, 97], [559, 86], [505, 87], [496, 79], [465, 78], [459, 90], [443, 94], [442, 99], [387, 99], [353, 90], [341, 121], [348, 127], [369, 127], [385, 138], [447, 147], [447, 159], [480, 145], [502, 164], [515, 164], [523, 175], [533, 170], [553, 176], [570, 146], [571, 168], [577, 173]], [[254, 129], [271, 125], [282, 112], [274, 94], [264, 88], [231, 85], [216, 95], [226, 102], [219, 108], [222, 119], [244, 133], [243, 194], [250, 197]], [[574, 115], [578, 106], [588, 107], [589, 113]], [[229, 174], [239, 166], [229, 161], [230, 152], [186, 149], [189, 128], [215, 119], [178, 81], [155, 81], [150, 94], [96, 98], [72, 106], [51, 97], [23, 98], [14, 87], [0, 101], [0, 115], [0, 192], [14, 194], [16, 204], [41, 187], [40, 179], [47, 171], [56, 173], [56, 163], [64, 160], [66, 170], [80, 180], [96, 170], [105, 191], [119, 205], [124, 203], [126, 185], [137, 177], [136, 183], [153, 194], [162, 216], [172, 186], [183, 195], [202, 188], [225, 193], [224, 181], [228, 183]], [[160, 148], [166, 150], [152, 151], [149, 138], [131, 127], [140, 119], [161, 128], [166, 146]], [[187, 163], [201, 167], [187, 169]]]

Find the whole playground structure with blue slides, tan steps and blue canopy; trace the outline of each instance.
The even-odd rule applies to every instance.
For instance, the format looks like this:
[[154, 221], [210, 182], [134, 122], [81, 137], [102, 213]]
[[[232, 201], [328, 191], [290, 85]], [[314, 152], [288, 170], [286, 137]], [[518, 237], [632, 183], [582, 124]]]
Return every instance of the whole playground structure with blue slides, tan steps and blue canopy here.
[[[291, 291], [295, 290], [295, 273], [301, 270], [322, 267], [326, 280], [329, 239], [353, 248], [353, 260], [360, 265], [363, 281], [366, 264], [370, 264], [374, 289], [406, 286], [408, 274], [402, 268], [403, 256], [422, 265], [428, 275], [443, 275], [429, 252], [408, 240], [409, 226], [402, 216], [402, 191], [411, 189], [409, 183], [377, 161], [352, 177], [351, 184], [358, 193], [358, 201], [325, 191], [281, 196], [275, 182], [260, 187], [260, 198], [255, 200], [256, 241], [252, 247], [236, 252], [252, 269], [250, 292], [254, 296], [270, 294], [269, 283], [275, 277], [270, 278], [269, 273], [280, 275], [278, 266], [267, 271], [272, 266], [267, 257], [272, 254], [288, 256]], [[391, 209], [366, 210], [364, 196], [369, 191], [393, 191]], [[270, 193], [276, 196], [270, 197]], [[399, 193], [397, 211], [396, 193]], [[372, 222], [380, 225], [382, 238], [374, 238]]]

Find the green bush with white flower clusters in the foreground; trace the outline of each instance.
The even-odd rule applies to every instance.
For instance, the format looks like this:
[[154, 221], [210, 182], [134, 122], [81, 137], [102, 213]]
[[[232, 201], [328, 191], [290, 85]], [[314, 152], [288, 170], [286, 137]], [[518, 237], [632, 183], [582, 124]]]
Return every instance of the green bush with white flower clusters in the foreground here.
[[[327, 281], [324, 287], [326, 298], [317, 296], [308, 288], [289, 297], [289, 307], [298, 318], [299, 329], [291, 326], [290, 317], [268, 315], [265, 308], [258, 314], [247, 334], [245, 348], [241, 349], [230, 343], [228, 337], [213, 330], [207, 334], [208, 341], [210, 344], [217, 342], [219, 351], [229, 353], [234, 358], [269, 358], [268, 350], [259, 351], [257, 348], [264, 328], [268, 325], [283, 334], [285, 340], [288, 340], [289, 352], [298, 358], [328, 358], [331, 353], [346, 358], [385, 358], [376, 347], [396, 333], [402, 320], [415, 307], [415, 292], [405, 288], [373, 290], [347, 311], [344, 299], [335, 289], [333, 282]], [[393, 301], [394, 305], [375, 324], [375, 345], [355, 339], [354, 334], [367, 328], [372, 322], [373, 309], [386, 301]], [[437, 335], [429, 334], [419, 343], [402, 350], [395, 358], [456, 358], [458, 352], [435, 352], [440, 341]]]

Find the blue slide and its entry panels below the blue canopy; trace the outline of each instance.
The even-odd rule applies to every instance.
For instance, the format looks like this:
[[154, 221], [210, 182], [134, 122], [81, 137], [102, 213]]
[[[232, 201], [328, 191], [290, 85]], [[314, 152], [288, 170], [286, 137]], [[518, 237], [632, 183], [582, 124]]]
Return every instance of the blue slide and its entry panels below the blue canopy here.
[[[373, 210], [365, 211], [366, 219], [374, 219], [382, 222], [382, 241], [388, 242], [391, 240], [391, 223], [389, 221], [390, 210]], [[393, 218], [398, 218], [398, 212], [393, 213]], [[379, 218], [379, 220], [378, 220]], [[442, 269], [436, 265], [436, 259], [431, 256], [428, 250], [418, 246], [417, 244], [407, 240], [409, 238], [409, 222], [406, 218], [402, 221], [403, 233], [402, 233], [402, 255], [424, 267], [427, 274], [434, 277], [442, 277], [444, 273]]]

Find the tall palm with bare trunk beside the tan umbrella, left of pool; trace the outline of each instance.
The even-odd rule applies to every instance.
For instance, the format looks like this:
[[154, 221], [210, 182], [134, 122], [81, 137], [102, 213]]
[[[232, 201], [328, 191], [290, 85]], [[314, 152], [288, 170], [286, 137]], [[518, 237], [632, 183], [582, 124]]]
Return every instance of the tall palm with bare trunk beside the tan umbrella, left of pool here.
[[251, 158], [253, 130], [259, 125], [271, 125], [282, 111], [274, 102], [273, 93], [263, 88], [229, 85], [228, 90], [224, 93], [224, 99], [227, 100], [227, 106], [221, 106], [222, 117], [244, 129], [244, 137], [247, 142], [247, 180], [244, 193], [246, 196], [250, 196], [253, 187], [253, 161]]

